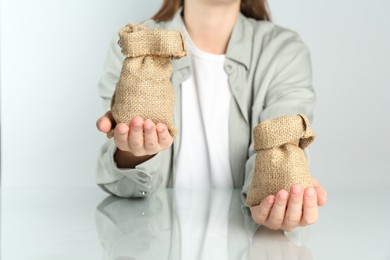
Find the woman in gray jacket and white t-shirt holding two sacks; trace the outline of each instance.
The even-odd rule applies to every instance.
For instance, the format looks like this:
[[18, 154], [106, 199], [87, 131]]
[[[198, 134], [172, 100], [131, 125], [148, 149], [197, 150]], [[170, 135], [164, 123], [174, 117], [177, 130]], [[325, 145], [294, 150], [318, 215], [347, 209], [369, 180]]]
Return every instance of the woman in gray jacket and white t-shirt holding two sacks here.
[[[110, 112], [97, 127], [113, 140], [103, 146], [98, 184], [122, 197], [141, 197], [159, 185], [175, 188], [242, 188], [253, 175], [252, 130], [284, 114], [312, 118], [311, 64], [299, 36], [269, 22], [264, 0], [165, 0], [145, 26], [181, 30], [189, 55], [173, 63], [180, 134], [136, 117], [115, 124]], [[99, 91], [107, 104], [123, 57], [113, 40]], [[251, 207], [256, 223], [292, 230], [318, 219], [326, 192], [293, 185]]]

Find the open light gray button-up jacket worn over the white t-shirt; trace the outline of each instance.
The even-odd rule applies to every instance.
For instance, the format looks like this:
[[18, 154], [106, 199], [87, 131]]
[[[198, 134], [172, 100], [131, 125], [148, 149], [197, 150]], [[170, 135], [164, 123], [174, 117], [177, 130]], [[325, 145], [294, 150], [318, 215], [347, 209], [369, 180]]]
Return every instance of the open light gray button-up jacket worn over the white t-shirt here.
[[[181, 11], [167, 22], [144, 22], [152, 28], [184, 30]], [[113, 41], [99, 82], [99, 94], [108, 109], [124, 60]], [[120, 197], [143, 197], [157, 187], [173, 187], [175, 160], [180, 149], [181, 83], [190, 76], [188, 56], [173, 61], [175, 90], [174, 123], [179, 128], [170, 149], [158, 153], [135, 169], [117, 168], [112, 139], [103, 145], [96, 181]], [[256, 21], [240, 14], [226, 52], [224, 69], [232, 100], [229, 119], [229, 155], [235, 188], [246, 194], [252, 179], [255, 153], [252, 130], [260, 122], [285, 114], [305, 114], [312, 119], [315, 93], [312, 88], [310, 54], [299, 35], [268, 21]]]

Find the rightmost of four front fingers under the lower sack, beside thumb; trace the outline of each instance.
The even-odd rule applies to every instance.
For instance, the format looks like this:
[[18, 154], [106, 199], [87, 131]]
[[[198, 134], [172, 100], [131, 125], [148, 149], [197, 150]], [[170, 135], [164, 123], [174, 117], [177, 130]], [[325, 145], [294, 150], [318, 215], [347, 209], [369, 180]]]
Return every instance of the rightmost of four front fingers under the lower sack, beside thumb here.
[[315, 188], [309, 187], [305, 189], [303, 195], [303, 215], [300, 225], [306, 226], [317, 222], [318, 220], [318, 207], [317, 207], [317, 194]]

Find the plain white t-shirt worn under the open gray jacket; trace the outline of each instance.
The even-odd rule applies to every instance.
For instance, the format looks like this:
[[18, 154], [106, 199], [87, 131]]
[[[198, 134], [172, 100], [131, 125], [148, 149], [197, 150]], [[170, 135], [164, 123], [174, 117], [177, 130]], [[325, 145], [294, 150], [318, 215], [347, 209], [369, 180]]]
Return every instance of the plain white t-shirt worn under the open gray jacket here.
[[186, 35], [192, 75], [181, 86], [181, 144], [175, 188], [233, 188], [229, 160], [232, 99], [225, 55], [198, 49]]

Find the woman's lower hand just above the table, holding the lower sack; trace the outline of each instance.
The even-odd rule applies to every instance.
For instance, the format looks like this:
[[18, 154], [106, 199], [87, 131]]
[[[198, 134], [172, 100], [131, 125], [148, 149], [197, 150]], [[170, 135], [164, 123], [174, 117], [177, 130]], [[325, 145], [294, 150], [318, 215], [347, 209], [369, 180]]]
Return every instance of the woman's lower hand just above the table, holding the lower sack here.
[[274, 230], [292, 231], [299, 226], [317, 222], [318, 206], [326, 203], [326, 191], [313, 179], [314, 187], [302, 189], [292, 185], [290, 193], [280, 190], [276, 196], [266, 197], [260, 205], [250, 208], [257, 224]]

